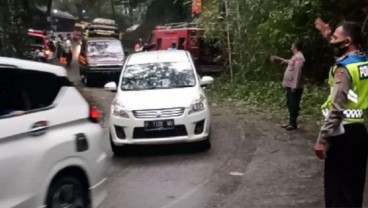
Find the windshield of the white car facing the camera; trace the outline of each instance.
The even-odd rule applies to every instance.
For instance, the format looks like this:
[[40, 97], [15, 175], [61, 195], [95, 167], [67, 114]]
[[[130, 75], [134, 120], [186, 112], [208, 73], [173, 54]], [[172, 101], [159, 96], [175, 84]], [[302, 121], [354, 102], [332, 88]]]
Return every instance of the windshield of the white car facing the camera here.
[[193, 87], [194, 70], [189, 62], [128, 65], [123, 71], [122, 90], [172, 89]]

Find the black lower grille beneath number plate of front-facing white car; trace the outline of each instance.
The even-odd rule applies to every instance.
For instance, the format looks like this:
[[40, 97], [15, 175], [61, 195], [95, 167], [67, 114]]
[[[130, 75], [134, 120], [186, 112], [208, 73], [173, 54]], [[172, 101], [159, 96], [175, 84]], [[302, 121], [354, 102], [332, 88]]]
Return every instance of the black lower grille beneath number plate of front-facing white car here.
[[145, 131], [144, 127], [134, 128], [133, 138], [134, 139], [154, 139], [154, 138], [167, 138], [167, 137], [178, 137], [187, 136], [187, 129], [185, 125], [177, 125], [174, 129], [170, 130], [157, 130], [157, 131]]

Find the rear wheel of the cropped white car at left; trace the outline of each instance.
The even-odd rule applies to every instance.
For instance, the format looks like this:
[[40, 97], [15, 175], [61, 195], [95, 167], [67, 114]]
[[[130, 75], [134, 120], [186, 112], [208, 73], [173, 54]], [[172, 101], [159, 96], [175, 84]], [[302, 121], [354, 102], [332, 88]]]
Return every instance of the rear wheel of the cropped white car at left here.
[[57, 179], [47, 193], [47, 208], [90, 208], [88, 187], [72, 176]]

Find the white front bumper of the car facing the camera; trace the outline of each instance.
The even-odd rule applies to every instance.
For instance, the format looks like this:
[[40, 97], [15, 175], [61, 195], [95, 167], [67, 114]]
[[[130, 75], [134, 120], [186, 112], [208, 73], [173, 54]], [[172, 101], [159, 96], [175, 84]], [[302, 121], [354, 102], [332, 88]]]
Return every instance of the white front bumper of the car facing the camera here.
[[[188, 109], [185, 110], [183, 116], [176, 118], [163, 118], [162, 120], [173, 119], [176, 126], [176, 133], [170, 134], [169, 131], [155, 131], [154, 136], [150, 132], [145, 132], [144, 122], [160, 119], [138, 119], [133, 113], [129, 112], [130, 118], [120, 118], [111, 116], [110, 132], [112, 142], [115, 145], [153, 145], [153, 144], [174, 144], [198, 142], [208, 138], [210, 132], [210, 113], [205, 110], [198, 113], [188, 115]], [[195, 132], [195, 129], [203, 122], [203, 130]], [[180, 127], [180, 128], [179, 128]], [[120, 130], [118, 130], [120, 129]], [[137, 133], [136, 131], [140, 131]], [[121, 136], [119, 131], [123, 130], [124, 135]], [[180, 135], [177, 132], [180, 131]], [[142, 136], [143, 135], [143, 136]], [[162, 136], [161, 136], [162, 135]], [[124, 137], [125, 136], [125, 137]]]

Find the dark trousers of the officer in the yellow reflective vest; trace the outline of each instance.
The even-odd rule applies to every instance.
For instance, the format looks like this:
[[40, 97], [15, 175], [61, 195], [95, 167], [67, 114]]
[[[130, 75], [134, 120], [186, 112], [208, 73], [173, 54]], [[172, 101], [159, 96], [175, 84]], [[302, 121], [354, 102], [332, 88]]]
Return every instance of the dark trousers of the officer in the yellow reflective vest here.
[[345, 125], [345, 134], [331, 137], [325, 161], [326, 207], [362, 207], [368, 135], [363, 124]]

